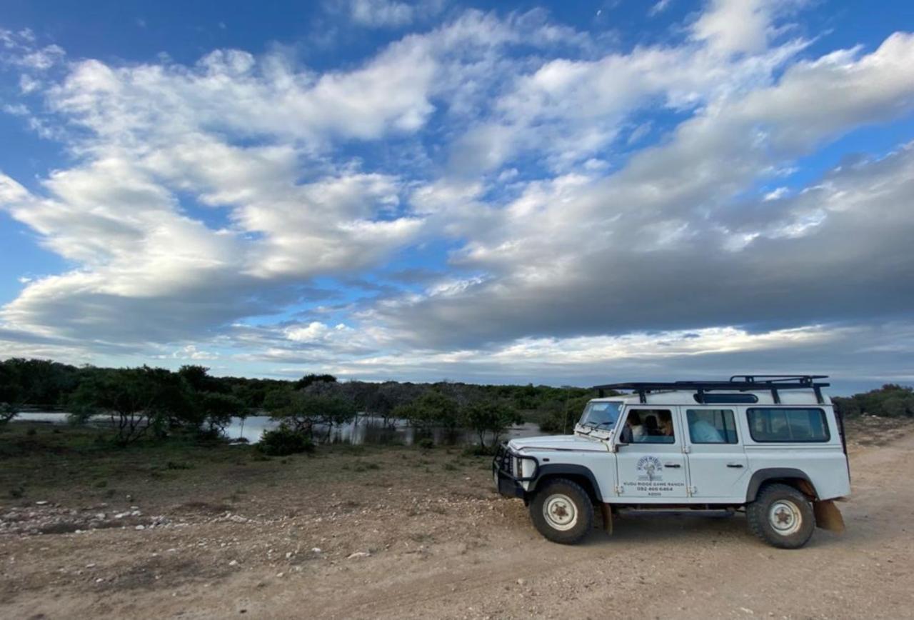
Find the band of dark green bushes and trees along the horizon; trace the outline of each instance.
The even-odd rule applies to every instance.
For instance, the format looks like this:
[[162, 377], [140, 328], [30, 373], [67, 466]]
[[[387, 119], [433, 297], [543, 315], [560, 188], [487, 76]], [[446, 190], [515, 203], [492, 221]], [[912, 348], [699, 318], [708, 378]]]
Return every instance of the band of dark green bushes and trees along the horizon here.
[[[0, 429], [19, 412], [58, 408], [70, 412], [73, 427], [107, 418], [110, 423], [93, 435], [100, 445], [148, 440], [186, 445], [189, 438], [215, 445], [228, 441], [224, 432], [232, 421], [266, 413], [277, 427], [264, 431], [255, 449], [282, 456], [331, 444], [335, 430], [361, 416], [377, 427], [368, 443], [398, 442], [394, 431], [405, 422], [420, 447], [473, 444], [469, 449], [491, 454], [515, 424], [534, 422], [544, 434], [571, 432], [584, 404], [596, 395], [586, 388], [532, 384], [373, 383], [339, 381], [329, 374], [247, 379], [213, 377], [202, 366], [77, 368], [9, 358], [0, 362]], [[914, 390], [896, 384], [833, 401], [846, 419], [914, 417]]]

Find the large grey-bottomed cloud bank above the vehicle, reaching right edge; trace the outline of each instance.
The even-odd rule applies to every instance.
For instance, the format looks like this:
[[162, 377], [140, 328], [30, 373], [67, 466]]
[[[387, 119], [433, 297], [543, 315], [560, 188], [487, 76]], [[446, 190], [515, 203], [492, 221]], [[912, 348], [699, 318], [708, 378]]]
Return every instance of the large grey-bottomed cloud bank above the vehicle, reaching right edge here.
[[[908, 297], [892, 282], [906, 277], [904, 265], [914, 273], [903, 250], [911, 232], [902, 215], [914, 177], [909, 149], [838, 171], [801, 201], [761, 203], [781, 206], [775, 210], [739, 208], [733, 200], [823, 141], [914, 109], [912, 53], [914, 37], [898, 34], [866, 56], [796, 63], [771, 86], [712, 102], [618, 172], [527, 184], [505, 208], [484, 213], [485, 226], [454, 256], [456, 264], [487, 273], [484, 281], [458, 295], [383, 306], [380, 320], [417, 344], [441, 347], [575, 331], [764, 323], [788, 308], [799, 320], [796, 302], [760, 303], [766, 295], [758, 289], [768, 283], [775, 297], [784, 290], [798, 299], [813, 295], [799, 304], [810, 310], [807, 318], [863, 312], [860, 286], [872, 295], [869, 312], [877, 296], [881, 312], [900, 312]], [[823, 92], [835, 96], [820, 105]], [[822, 113], [822, 105], [834, 113]], [[858, 233], [850, 232], [855, 227]], [[848, 241], [835, 246], [836, 239]], [[770, 275], [760, 277], [761, 266]], [[685, 301], [697, 283], [710, 287], [700, 295], [707, 303]], [[814, 295], [821, 300], [825, 291], [834, 303], [822, 306]], [[680, 296], [683, 303], [671, 308], [668, 300]]]

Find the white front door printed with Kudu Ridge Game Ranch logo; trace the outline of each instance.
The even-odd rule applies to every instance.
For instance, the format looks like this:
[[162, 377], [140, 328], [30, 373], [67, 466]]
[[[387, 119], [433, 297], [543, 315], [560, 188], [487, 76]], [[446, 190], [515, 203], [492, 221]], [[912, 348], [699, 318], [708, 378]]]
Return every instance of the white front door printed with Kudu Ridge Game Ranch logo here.
[[644, 504], [686, 497], [683, 426], [676, 407], [631, 407], [619, 428], [613, 440], [616, 496]]

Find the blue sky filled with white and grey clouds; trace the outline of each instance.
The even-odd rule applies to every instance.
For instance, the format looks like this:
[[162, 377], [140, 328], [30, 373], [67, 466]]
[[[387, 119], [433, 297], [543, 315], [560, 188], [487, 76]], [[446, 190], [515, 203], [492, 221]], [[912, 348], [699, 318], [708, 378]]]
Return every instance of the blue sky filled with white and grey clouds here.
[[914, 4], [5, 0], [0, 358], [914, 383]]

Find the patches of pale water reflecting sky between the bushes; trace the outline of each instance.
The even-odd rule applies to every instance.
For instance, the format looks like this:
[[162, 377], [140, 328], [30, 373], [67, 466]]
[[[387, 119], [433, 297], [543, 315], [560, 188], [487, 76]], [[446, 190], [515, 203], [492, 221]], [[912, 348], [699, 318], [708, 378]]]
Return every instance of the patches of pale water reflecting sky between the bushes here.
[[[66, 424], [69, 413], [58, 412], [29, 412], [20, 413], [14, 419], [24, 422], [51, 422], [55, 424]], [[90, 424], [105, 426], [111, 422], [111, 418], [106, 415], [92, 416]], [[332, 442], [338, 444], [381, 444], [381, 443], [398, 443], [410, 445], [416, 440], [416, 429], [409, 426], [406, 420], [398, 418], [388, 418], [388, 424], [384, 424], [381, 418], [371, 415], [359, 415], [352, 422], [334, 426], [332, 429], [326, 426], [315, 427], [315, 439], [320, 442]], [[225, 429], [225, 436], [229, 439], [238, 439], [244, 437], [251, 444], [260, 441], [260, 435], [264, 431], [279, 426], [267, 415], [251, 415], [247, 418], [232, 418], [231, 423]], [[539, 431], [539, 426], [534, 422], [526, 422], [514, 426], [502, 435], [504, 439], [514, 439], [515, 437], [533, 437], [543, 434]], [[448, 442], [447, 433], [444, 429], [433, 429], [432, 438], [436, 444], [446, 444]], [[458, 444], [478, 444], [479, 436], [476, 433], [468, 431], [458, 431], [457, 436], [453, 438]], [[491, 442], [492, 435], [485, 436], [486, 443]]]

